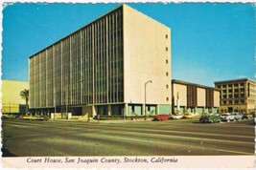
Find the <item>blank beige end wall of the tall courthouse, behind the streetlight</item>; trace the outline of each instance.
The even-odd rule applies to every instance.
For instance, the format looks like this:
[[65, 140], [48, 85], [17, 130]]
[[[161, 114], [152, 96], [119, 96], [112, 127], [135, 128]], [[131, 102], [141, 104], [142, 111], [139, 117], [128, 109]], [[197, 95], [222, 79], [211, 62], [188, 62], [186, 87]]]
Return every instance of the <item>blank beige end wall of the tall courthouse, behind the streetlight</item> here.
[[171, 104], [171, 30], [124, 5], [125, 102]]

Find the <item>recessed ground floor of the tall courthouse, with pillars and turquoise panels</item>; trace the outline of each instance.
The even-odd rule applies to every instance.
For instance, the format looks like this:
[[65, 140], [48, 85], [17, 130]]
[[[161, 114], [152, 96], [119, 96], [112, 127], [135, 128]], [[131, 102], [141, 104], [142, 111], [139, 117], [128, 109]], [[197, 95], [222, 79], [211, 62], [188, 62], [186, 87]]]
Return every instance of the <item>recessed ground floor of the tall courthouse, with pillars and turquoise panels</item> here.
[[[32, 115], [61, 117], [142, 117], [160, 114], [171, 114], [171, 105], [168, 104], [142, 104], [142, 103], [116, 103], [104, 105], [56, 106], [51, 108], [30, 109]], [[54, 114], [54, 116], [53, 116]]]

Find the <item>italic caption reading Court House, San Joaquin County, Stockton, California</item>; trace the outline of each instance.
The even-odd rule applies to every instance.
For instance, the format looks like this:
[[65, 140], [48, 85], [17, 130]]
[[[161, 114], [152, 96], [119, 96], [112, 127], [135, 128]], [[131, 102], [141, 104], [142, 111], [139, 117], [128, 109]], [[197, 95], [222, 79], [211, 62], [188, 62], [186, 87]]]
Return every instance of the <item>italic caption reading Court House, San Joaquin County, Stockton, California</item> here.
[[177, 159], [167, 157], [152, 158], [28, 158], [28, 163], [176, 163]]

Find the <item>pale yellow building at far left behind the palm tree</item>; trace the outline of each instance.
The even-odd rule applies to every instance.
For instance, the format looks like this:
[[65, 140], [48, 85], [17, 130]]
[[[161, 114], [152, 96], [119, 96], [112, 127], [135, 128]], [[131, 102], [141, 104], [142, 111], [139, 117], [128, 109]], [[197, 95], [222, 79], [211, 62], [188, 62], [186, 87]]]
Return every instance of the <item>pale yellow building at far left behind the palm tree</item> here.
[[26, 101], [20, 92], [29, 89], [29, 83], [24, 81], [2, 80], [2, 113], [25, 114]]

